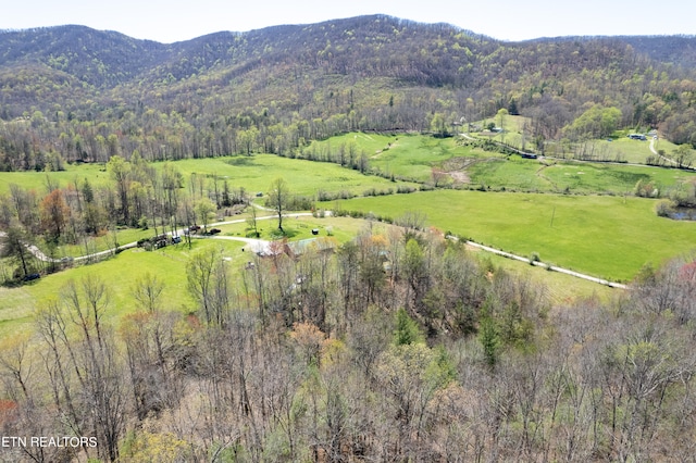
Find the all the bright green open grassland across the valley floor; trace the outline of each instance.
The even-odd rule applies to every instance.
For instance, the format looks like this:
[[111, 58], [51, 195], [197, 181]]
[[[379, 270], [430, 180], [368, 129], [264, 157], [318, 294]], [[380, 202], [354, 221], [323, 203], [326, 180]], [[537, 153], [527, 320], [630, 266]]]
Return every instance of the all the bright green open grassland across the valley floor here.
[[[521, 130], [521, 121], [513, 117], [509, 121], [514, 121], [519, 125], [514, 127]], [[611, 147], [647, 147], [629, 139], [597, 142], [606, 142]], [[430, 183], [433, 180], [433, 168], [449, 168], [447, 172], [450, 174], [461, 174], [457, 176], [459, 180], [465, 178], [469, 182], [460, 184], [460, 187], [471, 190], [445, 189], [355, 198], [322, 202], [318, 204], [320, 209], [372, 212], [389, 218], [396, 218], [408, 211], [420, 211], [426, 215], [427, 225], [444, 232], [520, 255], [538, 253], [543, 262], [617, 281], [631, 280], [647, 263], [658, 266], [671, 258], [696, 249], [695, 223], [658, 217], [655, 213], [655, 200], [632, 196], [639, 180], [652, 182], [660, 191], [684, 188], [696, 182], [693, 172], [625, 164], [530, 160], [517, 154], [502, 155], [462, 146], [461, 140], [455, 137], [434, 138], [423, 135], [351, 133], [314, 141], [312, 147], [315, 150], [338, 150], [349, 143], [355, 145], [357, 150], [366, 152], [370, 167], [382, 174]], [[465, 162], [458, 164], [452, 160]], [[190, 189], [195, 177], [206, 180], [204, 188], [209, 188], [209, 183], [216, 177], [228, 182], [231, 188], [244, 188], [251, 197], [261, 192], [263, 197], [256, 199], [261, 205], [265, 203], [271, 183], [277, 177], [285, 178], [293, 195], [308, 197], [314, 197], [320, 190], [361, 196], [365, 191], [394, 191], [399, 185], [408, 185], [414, 189], [420, 187], [419, 184], [363, 175], [356, 170], [328, 162], [271, 154], [182, 160], [171, 164], [182, 173], [184, 190]], [[163, 163], [152, 165], [161, 168]], [[65, 172], [0, 173], [0, 192], [8, 192], [9, 185], [13, 183], [45, 191], [48, 178], [61, 187], [84, 178], [89, 179], [97, 188], [112, 183], [103, 165], [69, 165]], [[561, 192], [570, 195], [559, 195]], [[271, 211], [258, 211], [259, 216], [272, 214]], [[219, 215], [217, 220], [239, 221], [236, 224], [220, 225], [221, 236], [252, 237], [247, 223], [249, 217], [248, 209], [233, 217]], [[261, 239], [277, 239], [274, 222], [273, 218], [259, 221]], [[364, 221], [360, 220], [293, 217], [290, 214], [284, 228], [286, 238], [290, 240], [311, 238], [311, 230], [316, 228], [320, 236], [331, 236], [343, 243], [352, 239], [364, 226]], [[116, 241], [124, 245], [152, 234], [152, 229], [121, 227], [116, 230]], [[214, 241], [231, 250], [233, 264], [238, 261], [237, 266], [240, 267], [246, 262], [241, 251], [243, 242]], [[91, 252], [101, 251], [111, 248], [113, 242], [111, 232], [105, 232], [105, 235], [91, 239], [88, 246], [61, 243], [53, 255], [78, 256], [85, 254], [87, 248]], [[194, 247], [209, 246], [210, 242], [213, 240], [207, 240], [206, 243], [195, 240]], [[42, 246], [41, 242], [37, 245]], [[47, 297], [54, 296], [67, 279], [78, 279], [87, 274], [98, 274], [114, 281], [114, 305], [125, 310], [133, 306], [128, 284], [125, 281], [133, 281], [146, 272], [163, 275], [165, 283], [172, 288], [166, 292], [171, 297], [166, 303], [185, 310], [188, 304], [185, 281], [187, 259], [188, 249], [182, 245], [156, 252], [128, 250], [96, 265], [77, 265], [23, 287], [1, 288], [0, 330], [27, 321], [33, 308]], [[507, 264], [500, 258], [489, 259]], [[0, 265], [9, 268], [7, 262], [0, 261]], [[513, 266], [518, 267], [519, 264]], [[563, 300], [567, 295], [586, 295], [591, 292], [589, 288], [595, 287], [593, 284], [582, 284], [570, 289], [572, 278], [562, 277], [559, 280], [558, 275], [538, 270], [534, 274], [548, 283], [550, 291], [557, 295], [556, 300]]]

